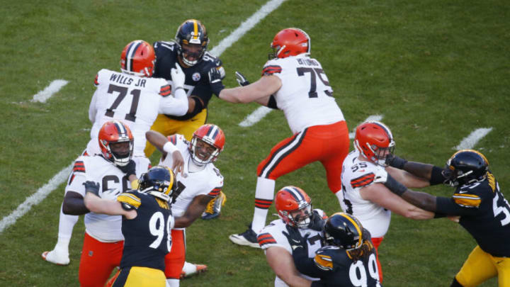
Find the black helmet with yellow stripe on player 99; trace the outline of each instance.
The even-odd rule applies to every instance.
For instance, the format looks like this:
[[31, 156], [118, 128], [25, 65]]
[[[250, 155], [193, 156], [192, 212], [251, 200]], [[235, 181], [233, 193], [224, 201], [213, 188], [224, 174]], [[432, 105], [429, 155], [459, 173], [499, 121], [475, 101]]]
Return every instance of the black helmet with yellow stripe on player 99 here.
[[343, 249], [357, 249], [363, 244], [363, 226], [348, 213], [335, 213], [326, 220], [322, 230], [324, 241]]

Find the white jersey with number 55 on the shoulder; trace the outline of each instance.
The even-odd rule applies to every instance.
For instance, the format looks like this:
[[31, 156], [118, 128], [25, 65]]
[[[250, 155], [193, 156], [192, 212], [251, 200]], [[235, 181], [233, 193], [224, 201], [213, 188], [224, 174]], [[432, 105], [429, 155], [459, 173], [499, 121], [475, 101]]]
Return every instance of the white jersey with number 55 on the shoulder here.
[[372, 237], [382, 237], [390, 227], [391, 211], [361, 198], [360, 189], [373, 184], [373, 179], [379, 174], [387, 174], [384, 167], [373, 162], [358, 159], [358, 150], [350, 152], [341, 172], [342, 201], [344, 212], [354, 215], [360, 220]]

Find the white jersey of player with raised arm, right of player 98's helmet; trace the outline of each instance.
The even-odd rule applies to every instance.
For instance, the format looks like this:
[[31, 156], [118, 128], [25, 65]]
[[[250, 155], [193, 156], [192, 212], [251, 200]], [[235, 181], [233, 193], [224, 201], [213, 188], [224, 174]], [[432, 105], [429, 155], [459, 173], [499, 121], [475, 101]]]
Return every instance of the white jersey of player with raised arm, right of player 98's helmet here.
[[[200, 194], [216, 197], [223, 187], [223, 176], [220, 174], [214, 164], [206, 164], [205, 168], [191, 172], [189, 170], [191, 162], [191, 154], [188, 150], [188, 141], [183, 135], [172, 135], [171, 142], [181, 151], [184, 159], [184, 175], [176, 174], [177, 193], [179, 196], [176, 202], [171, 205], [172, 214], [175, 217], [182, 216], [195, 196]], [[171, 167], [173, 159], [168, 154], [159, 164]], [[191, 163], [193, 164], [193, 163]]]

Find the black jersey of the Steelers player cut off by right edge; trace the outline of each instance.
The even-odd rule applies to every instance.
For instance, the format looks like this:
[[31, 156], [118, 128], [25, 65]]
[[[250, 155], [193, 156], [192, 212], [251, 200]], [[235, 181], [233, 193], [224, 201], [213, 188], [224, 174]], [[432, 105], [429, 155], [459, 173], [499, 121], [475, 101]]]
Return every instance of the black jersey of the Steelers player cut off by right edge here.
[[510, 257], [510, 206], [491, 172], [483, 181], [455, 189], [451, 198], [438, 197], [436, 212], [460, 215], [460, 225], [485, 252]]

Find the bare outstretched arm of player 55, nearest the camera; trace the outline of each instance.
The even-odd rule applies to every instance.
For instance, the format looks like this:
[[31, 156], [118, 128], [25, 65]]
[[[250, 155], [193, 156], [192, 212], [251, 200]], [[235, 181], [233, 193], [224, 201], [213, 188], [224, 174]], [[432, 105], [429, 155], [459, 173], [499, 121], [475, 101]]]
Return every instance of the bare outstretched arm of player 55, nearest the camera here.
[[423, 210], [392, 193], [384, 184], [370, 184], [360, 189], [361, 198], [371, 201], [393, 213], [402, 215], [405, 218], [424, 220], [434, 217], [434, 213]]

